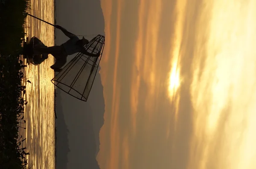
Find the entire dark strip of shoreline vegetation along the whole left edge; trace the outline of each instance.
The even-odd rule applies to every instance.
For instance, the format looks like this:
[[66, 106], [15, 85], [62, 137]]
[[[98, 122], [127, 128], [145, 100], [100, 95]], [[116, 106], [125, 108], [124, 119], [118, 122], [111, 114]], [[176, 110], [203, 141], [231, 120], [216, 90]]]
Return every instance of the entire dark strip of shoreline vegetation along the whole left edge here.
[[26, 123], [23, 120], [26, 86], [21, 82], [29, 82], [21, 71], [26, 65], [18, 52], [22, 51], [29, 9], [29, 0], [0, 0], [0, 168], [3, 169], [29, 168], [26, 159], [29, 152], [20, 147], [26, 138], [18, 133]]

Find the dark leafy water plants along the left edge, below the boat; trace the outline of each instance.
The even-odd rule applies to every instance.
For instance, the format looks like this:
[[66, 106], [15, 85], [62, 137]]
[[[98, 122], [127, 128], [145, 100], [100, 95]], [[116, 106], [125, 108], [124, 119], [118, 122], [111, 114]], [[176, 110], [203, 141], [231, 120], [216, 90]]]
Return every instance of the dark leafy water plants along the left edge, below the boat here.
[[0, 56], [0, 166], [4, 169], [25, 169], [28, 164], [29, 153], [25, 152], [26, 147], [20, 147], [26, 138], [18, 133], [20, 124], [26, 123], [26, 86], [21, 84], [24, 67], [19, 56]]

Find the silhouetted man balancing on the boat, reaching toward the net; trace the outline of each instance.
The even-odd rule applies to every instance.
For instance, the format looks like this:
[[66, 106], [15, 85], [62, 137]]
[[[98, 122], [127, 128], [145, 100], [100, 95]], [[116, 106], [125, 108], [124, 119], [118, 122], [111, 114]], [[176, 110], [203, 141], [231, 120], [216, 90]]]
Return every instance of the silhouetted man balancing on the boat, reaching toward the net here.
[[54, 65], [51, 66], [51, 68], [55, 72], [59, 72], [61, 68], [66, 64], [68, 55], [73, 55], [81, 52], [88, 56], [97, 57], [96, 54], [90, 54], [89, 52], [84, 50], [84, 46], [89, 43], [87, 39], [85, 39], [84, 37], [82, 39], [79, 39], [79, 37], [77, 37], [75, 34], [70, 33], [65, 28], [62, 28], [60, 25], [55, 25], [55, 28], [60, 29], [70, 39], [67, 40], [67, 42], [61, 44], [60, 46], [36, 46], [33, 49], [34, 54], [51, 54], [55, 57], [56, 62]]

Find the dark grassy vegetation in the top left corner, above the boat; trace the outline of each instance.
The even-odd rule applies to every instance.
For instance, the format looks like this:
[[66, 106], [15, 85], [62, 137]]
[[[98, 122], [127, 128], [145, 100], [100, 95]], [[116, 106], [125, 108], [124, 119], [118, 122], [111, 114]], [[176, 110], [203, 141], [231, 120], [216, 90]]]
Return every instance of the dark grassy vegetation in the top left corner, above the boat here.
[[0, 54], [10, 55], [22, 50], [29, 0], [0, 0]]

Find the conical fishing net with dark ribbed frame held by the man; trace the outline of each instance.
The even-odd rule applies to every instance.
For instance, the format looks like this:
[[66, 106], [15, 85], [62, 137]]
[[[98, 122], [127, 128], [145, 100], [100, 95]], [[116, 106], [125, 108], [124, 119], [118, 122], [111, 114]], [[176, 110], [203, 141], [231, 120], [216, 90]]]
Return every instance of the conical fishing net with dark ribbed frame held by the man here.
[[77, 54], [51, 81], [64, 92], [87, 101], [96, 76], [105, 44], [105, 37], [98, 35], [84, 49], [87, 54]]

